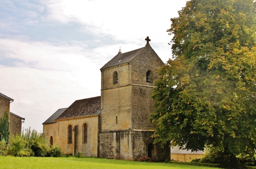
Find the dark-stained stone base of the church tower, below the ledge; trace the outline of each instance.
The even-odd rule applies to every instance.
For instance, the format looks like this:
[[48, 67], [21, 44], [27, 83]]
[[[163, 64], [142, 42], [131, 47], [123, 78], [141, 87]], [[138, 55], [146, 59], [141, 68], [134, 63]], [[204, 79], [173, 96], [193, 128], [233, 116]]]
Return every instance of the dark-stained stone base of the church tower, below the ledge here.
[[153, 144], [150, 136], [153, 131], [108, 131], [99, 133], [98, 156], [100, 158], [114, 158], [137, 161], [142, 156], [149, 156], [153, 162], [170, 160], [169, 145], [160, 148]]

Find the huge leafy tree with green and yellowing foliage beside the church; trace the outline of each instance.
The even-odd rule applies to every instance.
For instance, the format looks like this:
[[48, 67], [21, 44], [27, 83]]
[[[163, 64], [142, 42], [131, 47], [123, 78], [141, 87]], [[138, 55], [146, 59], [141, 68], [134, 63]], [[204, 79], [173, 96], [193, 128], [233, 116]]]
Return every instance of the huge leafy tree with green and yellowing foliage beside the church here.
[[[152, 94], [155, 142], [222, 150], [224, 167], [256, 148], [254, 0], [191, 0], [171, 18], [173, 60]], [[232, 165], [234, 164], [234, 165]]]

